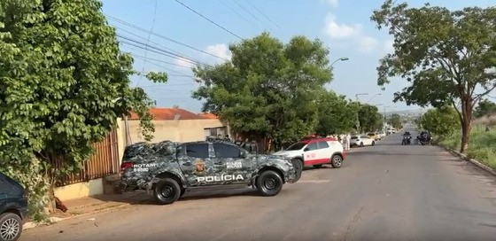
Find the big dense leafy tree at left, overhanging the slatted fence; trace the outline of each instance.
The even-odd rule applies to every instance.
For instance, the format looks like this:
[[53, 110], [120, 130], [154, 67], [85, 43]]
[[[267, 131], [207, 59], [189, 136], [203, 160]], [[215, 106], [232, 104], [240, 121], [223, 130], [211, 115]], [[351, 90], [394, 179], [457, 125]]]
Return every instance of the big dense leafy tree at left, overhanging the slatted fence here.
[[[97, 0], [0, 2], [0, 171], [27, 187], [36, 221], [55, 180], [81, 167], [117, 117], [132, 110], [143, 135], [153, 131], [152, 102], [129, 87], [133, 59], [120, 53], [101, 7]], [[65, 160], [58, 172], [55, 159]]]

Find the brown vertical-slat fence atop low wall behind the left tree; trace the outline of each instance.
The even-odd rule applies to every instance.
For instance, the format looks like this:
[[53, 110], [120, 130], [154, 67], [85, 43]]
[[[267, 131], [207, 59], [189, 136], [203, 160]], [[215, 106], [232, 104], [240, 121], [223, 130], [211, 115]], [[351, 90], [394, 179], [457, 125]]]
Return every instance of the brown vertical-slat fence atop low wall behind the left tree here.
[[[73, 183], [88, 182], [89, 180], [104, 177], [106, 175], [119, 174], [119, 152], [117, 131], [112, 130], [105, 139], [93, 144], [95, 149], [88, 161], [85, 161], [78, 173], [65, 175], [58, 178], [58, 187]], [[52, 167], [58, 169], [62, 167], [63, 159], [55, 160]]]

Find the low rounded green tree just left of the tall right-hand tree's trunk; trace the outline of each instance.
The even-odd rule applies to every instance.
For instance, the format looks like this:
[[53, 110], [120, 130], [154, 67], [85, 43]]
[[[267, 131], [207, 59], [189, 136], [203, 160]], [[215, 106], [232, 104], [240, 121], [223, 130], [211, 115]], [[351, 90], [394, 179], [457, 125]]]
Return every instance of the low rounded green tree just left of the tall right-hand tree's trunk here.
[[422, 128], [438, 136], [449, 136], [460, 128], [458, 113], [451, 106], [430, 109], [422, 115]]

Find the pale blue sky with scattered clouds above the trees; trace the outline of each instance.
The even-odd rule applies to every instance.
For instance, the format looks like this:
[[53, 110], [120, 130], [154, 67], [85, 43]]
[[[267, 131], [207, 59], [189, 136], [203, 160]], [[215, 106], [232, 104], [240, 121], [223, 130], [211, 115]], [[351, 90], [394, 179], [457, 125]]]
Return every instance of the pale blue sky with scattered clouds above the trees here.
[[[399, 2], [410, 6], [426, 3]], [[238, 36], [247, 39], [267, 31], [284, 43], [294, 35], [318, 38], [329, 48], [331, 62], [349, 58], [334, 64], [334, 78], [326, 88], [352, 99], [356, 94], [368, 94], [360, 95], [360, 102], [378, 105], [381, 111], [384, 106], [388, 106], [386, 111], [417, 110], [419, 106], [392, 103], [393, 93], [406, 87], [406, 81], [395, 78], [384, 90], [376, 84], [378, 61], [392, 51], [387, 30], [378, 30], [370, 21], [372, 12], [383, 3], [384, 0], [104, 0], [103, 12], [109, 24], [117, 27], [118, 35], [128, 38], [120, 38], [121, 50], [133, 54], [137, 71], [169, 74], [167, 83], [132, 78], [133, 86], [143, 88], [158, 107], [177, 105], [199, 113], [202, 102], [191, 97], [198, 88], [190, 71], [192, 62], [219, 64], [230, 58], [229, 43], [240, 42]], [[490, 6], [494, 0], [429, 3], [455, 10]], [[151, 47], [147, 50], [143, 44]]]

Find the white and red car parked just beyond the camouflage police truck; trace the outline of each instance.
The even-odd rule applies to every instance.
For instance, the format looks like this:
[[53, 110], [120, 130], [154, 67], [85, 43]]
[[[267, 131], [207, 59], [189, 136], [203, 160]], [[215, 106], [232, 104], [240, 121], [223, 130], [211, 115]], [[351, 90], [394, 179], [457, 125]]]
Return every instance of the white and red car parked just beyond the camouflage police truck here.
[[345, 149], [334, 138], [309, 138], [291, 144], [286, 150], [275, 152], [274, 155], [298, 159], [304, 166], [320, 168], [323, 164], [330, 164], [339, 168], [345, 160]]

